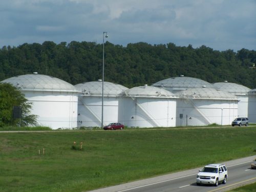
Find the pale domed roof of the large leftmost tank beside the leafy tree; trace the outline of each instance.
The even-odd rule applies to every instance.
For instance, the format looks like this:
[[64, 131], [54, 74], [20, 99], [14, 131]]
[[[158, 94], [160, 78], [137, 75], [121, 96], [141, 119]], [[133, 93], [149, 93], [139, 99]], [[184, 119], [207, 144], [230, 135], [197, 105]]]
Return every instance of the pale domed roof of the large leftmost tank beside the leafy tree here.
[[10, 83], [20, 90], [78, 92], [72, 84], [66, 81], [37, 73], [11, 77], [2, 83]]

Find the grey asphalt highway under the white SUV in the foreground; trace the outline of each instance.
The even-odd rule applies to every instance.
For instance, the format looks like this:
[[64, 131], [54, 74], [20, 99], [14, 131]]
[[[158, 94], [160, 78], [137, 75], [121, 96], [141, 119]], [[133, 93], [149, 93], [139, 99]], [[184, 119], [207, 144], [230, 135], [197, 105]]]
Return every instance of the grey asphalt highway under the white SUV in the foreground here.
[[250, 163], [255, 157], [256, 156], [251, 156], [232, 161], [219, 162], [227, 166], [228, 178], [226, 184], [220, 184], [217, 187], [208, 185], [197, 186], [197, 173], [198, 170], [203, 168], [198, 167], [197, 169], [193, 170], [96, 189], [91, 192], [226, 191], [238, 186], [256, 182], [256, 170], [251, 170], [250, 168]]

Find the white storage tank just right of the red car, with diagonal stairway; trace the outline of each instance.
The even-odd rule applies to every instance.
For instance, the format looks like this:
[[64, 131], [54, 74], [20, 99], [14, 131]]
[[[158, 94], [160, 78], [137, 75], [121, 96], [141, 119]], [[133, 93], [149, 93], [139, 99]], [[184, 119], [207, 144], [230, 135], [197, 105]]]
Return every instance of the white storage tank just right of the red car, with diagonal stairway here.
[[133, 87], [121, 94], [118, 120], [127, 127], [175, 127], [176, 98], [153, 86]]

